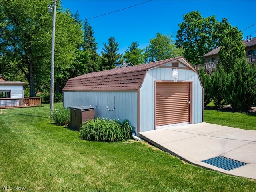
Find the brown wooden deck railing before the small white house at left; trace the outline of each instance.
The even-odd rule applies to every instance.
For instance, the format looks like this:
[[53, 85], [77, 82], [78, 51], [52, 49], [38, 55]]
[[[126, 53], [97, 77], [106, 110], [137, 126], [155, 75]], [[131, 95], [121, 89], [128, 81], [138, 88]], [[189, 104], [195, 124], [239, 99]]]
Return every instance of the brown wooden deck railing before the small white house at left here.
[[1, 98], [0, 99], [0, 108], [20, 108], [20, 107], [35, 107], [41, 104], [40, 97], [29, 97], [29, 98]]

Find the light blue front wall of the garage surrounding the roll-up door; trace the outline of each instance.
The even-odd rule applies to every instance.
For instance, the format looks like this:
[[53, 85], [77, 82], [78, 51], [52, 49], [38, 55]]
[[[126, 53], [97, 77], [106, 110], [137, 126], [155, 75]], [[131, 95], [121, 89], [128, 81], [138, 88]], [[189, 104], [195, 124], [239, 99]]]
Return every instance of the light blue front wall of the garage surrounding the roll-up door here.
[[[170, 64], [166, 65], [170, 66]], [[180, 66], [181, 67], [181, 66]], [[148, 70], [140, 88], [140, 132], [154, 130], [154, 80], [173, 80], [172, 68], [154, 68]], [[178, 69], [178, 80], [192, 81], [192, 122], [203, 121], [203, 93], [199, 76], [189, 69]]]

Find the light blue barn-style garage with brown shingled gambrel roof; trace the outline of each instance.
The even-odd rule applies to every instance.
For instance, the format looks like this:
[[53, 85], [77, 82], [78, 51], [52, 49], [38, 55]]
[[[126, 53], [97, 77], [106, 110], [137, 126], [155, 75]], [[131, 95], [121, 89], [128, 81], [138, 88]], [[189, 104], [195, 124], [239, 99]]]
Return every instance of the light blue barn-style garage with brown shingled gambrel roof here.
[[69, 79], [63, 105], [92, 106], [95, 117], [128, 119], [139, 132], [203, 122], [203, 87], [183, 57]]

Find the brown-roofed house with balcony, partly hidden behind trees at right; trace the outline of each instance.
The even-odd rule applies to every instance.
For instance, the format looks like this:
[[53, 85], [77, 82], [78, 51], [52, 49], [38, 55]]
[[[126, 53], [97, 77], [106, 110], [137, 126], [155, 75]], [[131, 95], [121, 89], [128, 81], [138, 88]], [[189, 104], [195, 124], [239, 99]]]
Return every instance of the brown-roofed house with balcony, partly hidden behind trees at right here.
[[[247, 36], [247, 39], [242, 42], [245, 45], [246, 60], [248, 62], [256, 63], [256, 37], [252, 38], [252, 36]], [[202, 66], [204, 70], [208, 72], [213, 71], [218, 64], [218, 52], [220, 48], [221, 46], [203, 55], [202, 58], [204, 58], [204, 64], [195, 65], [194, 67], [196, 70], [200, 70]]]

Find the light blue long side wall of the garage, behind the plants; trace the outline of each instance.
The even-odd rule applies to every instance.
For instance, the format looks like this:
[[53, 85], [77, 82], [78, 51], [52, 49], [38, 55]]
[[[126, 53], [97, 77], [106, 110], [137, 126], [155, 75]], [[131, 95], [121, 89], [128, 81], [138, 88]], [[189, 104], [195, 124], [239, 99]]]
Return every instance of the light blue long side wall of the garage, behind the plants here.
[[[91, 106], [95, 117], [109, 117], [110, 119], [128, 119], [137, 130], [137, 103], [138, 92], [63, 92], [64, 108], [69, 106]], [[114, 105], [115, 102], [115, 105]], [[109, 110], [108, 111], [107, 107]], [[115, 108], [114, 108], [115, 107]]]

